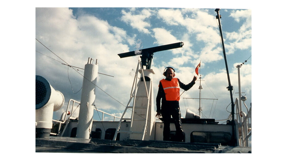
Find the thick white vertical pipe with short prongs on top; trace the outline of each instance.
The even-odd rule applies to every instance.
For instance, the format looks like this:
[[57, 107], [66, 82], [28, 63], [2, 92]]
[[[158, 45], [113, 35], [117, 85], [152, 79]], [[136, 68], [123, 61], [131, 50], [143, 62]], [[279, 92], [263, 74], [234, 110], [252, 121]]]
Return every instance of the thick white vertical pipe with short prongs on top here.
[[[98, 77], [98, 64], [85, 65], [79, 121], [77, 126], [77, 138], [89, 139], [92, 130], [94, 102], [96, 99], [95, 85]], [[96, 62], [97, 63], [97, 62]]]

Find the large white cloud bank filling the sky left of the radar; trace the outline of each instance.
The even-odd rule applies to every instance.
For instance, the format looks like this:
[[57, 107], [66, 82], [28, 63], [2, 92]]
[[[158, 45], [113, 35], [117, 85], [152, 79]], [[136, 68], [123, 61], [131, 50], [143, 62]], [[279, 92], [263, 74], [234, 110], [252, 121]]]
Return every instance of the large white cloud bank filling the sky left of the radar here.
[[[137, 64], [137, 58], [120, 59], [117, 55], [129, 51], [123, 42], [130, 44], [133, 42], [133, 38], [128, 37], [126, 31], [89, 15], [79, 15], [75, 19], [68, 8], [36, 8], [36, 38], [72, 66], [84, 68], [89, 57], [94, 60], [98, 59], [99, 72], [113, 75], [114, 78], [99, 75], [97, 86], [111, 95], [114, 91], [118, 91], [120, 97], [113, 96], [123, 104], [129, 99], [128, 93], [130, 93], [130, 84], [133, 80], [129, 72], [131, 66]], [[128, 41], [125, 41], [126, 39]], [[36, 50], [56, 58], [37, 41]], [[56, 86], [54, 88], [59, 91], [64, 91], [65, 100], [68, 101], [71, 98], [79, 100], [80, 95], [71, 95], [69, 90], [67, 93], [67, 89], [71, 89], [67, 78], [68, 67], [47, 57], [42, 59], [43, 57], [45, 56], [36, 53], [36, 74], [48, 79], [49, 82], [55, 82], [52, 86]], [[57, 60], [60, 59], [57, 58]], [[82, 76], [71, 68], [69, 76], [75, 91], [80, 89]], [[124, 108], [100, 89], [97, 88], [96, 91], [98, 92], [96, 101], [105, 102], [103, 109]], [[110, 99], [112, 101], [107, 101]], [[118, 107], [111, 104], [117, 104]]]

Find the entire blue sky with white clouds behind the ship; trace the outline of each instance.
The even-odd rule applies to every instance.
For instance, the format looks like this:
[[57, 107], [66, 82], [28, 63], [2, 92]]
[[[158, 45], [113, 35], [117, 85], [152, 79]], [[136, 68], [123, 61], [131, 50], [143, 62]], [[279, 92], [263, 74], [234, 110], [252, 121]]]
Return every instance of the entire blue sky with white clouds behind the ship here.
[[[242, 95], [247, 96], [245, 103], [249, 108], [252, 102], [251, 10], [221, 9], [220, 14], [234, 99], [238, 97], [235, 66], [248, 59], [240, 68], [240, 79], [241, 91], [245, 92]], [[227, 118], [227, 111], [231, 111], [231, 106], [228, 106], [230, 95], [226, 89], [227, 74], [214, 9], [36, 8], [35, 16], [35, 37], [72, 66], [84, 68], [89, 57], [98, 59], [99, 72], [114, 77], [99, 75], [97, 86], [123, 104], [129, 100], [138, 56], [119, 58], [117, 54], [184, 42], [182, 48], [154, 54], [154, 97], [159, 80], [164, 78], [162, 73], [165, 67], [174, 67], [176, 77], [187, 84], [192, 80], [194, 69], [201, 61], [200, 74], [205, 80], [202, 82], [202, 98], [218, 99], [217, 102], [202, 101], [203, 114], [207, 118], [221, 120]], [[55, 111], [53, 116], [54, 119], [60, 119], [69, 99], [80, 101], [81, 91], [74, 93], [81, 89], [83, 78], [72, 68], [68, 69], [62, 65], [61, 60], [37, 40], [35, 48], [36, 75], [46, 78], [65, 96], [65, 105]], [[198, 86], [197, 81], [181, 96], [183, 117], [186, 109], [198, 112], [198, 100], [183, 99], [198, 98]], [[118, 116], [121, 116], [125, 109], [101, 90], [97, 90], [96, 106]], [[245, 109], [243, 107], [243, 111]]]

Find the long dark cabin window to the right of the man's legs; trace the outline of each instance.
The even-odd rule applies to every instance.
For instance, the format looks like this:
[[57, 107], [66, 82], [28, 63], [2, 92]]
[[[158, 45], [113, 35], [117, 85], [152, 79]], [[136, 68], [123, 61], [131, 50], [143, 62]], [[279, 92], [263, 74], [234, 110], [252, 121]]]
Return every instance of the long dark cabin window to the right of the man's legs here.
[[193, 131], [190, 134], [191, 143], [220, 143], [227, 146], [231, 142], [229, 132]]

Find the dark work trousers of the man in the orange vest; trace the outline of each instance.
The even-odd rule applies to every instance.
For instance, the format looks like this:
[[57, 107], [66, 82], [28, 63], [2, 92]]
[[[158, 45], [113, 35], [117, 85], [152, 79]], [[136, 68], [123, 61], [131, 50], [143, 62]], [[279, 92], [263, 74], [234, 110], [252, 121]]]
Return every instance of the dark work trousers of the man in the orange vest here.
[[179, 110], [179, 108], [174, 108], [174, 107], [166, 107], [164, 109], [162, 109], [161, 111], [161, 115], [163, 118], [163, 122], [164, 122], [164, 132], [163, 132], [163, 136], [164, 136], [164, 141], [169, 141], [169, 135], [170, 135], [170, 120], [171, 117], [173, 117], [174, 120], [174, 125], [176, 128], [176, 141], [181, 142], [184, 138], [184, 133], [183, 130], [181, 128], [181, 112]]

